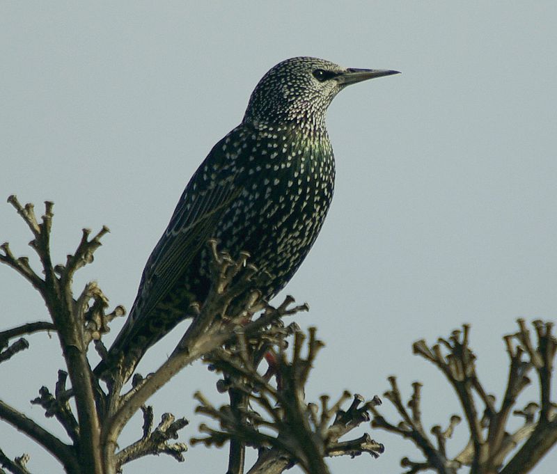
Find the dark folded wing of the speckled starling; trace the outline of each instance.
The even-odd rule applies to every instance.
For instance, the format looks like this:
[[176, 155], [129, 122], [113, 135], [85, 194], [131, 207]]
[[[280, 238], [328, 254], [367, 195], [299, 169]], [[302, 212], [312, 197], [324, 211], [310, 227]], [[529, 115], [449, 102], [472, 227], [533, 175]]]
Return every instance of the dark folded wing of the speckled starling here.
[[216, 226], [242, 192], [230, 159], [217, 143], [198, 168], [174, 210], [168, 227], [143, 270], [134, 316], [146, 316], [172, 290], [199, 249], [214, 237]]

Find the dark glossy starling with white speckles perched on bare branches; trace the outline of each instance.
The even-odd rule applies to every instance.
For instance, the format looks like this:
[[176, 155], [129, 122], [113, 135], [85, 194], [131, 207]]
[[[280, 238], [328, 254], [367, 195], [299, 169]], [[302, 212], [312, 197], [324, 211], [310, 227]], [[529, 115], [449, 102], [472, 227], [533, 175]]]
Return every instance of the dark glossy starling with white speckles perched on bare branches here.
[[[329, 211], [335, 160], [325, 116], [346, 86], [398, 74], [299, 56], [275, 65], [253, 90], [242, 123], [217, 142], [189, 180], [141, 276], [130, 315], [95, 373], [129, 379], [149, 347], [210, 288], [210, 239], [247, 252], [266, 301], [290, 281]], [[124, 362], [122, 358], [124, 354]], [[122, 368], [124, 365], [124, 368]]]

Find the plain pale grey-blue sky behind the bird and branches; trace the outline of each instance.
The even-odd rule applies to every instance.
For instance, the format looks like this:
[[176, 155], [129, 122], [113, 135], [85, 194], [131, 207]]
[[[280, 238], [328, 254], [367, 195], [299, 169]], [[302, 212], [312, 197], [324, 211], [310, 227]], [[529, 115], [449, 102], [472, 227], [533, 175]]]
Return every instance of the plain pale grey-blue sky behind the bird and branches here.
[[[285, 294], [308, 301], [297, 317], [326, 342], [308, 400], [348, 388], [381, 395], [397, 374], [405, 396], [418, 379], [423, 421], [446, 426], [458, 410], [432, 365], [411, 355], [472, 324], [478, 372], [499, 397], [515, 319], [557, 311], [557, 3], [497, 1], [153, 1], [0, 4], [0, 197], [54, 200], [52, 249], [74, 251], [81, 228], [111, 229], [75, 291], [97, 280], [112, 305], [130, 308], [141, 270], [182, 189], [212, 145], [242, 119], [260, 77], [291, 56], [402, 74], [351, 86], [329, 109], [337, 160], [334, 203]], [[8, 204], [0, 240], [29, 255], [31, 239]], [[33, 260], [34, 262], [35, 260]], [[45, 319], [38, 294], [0, 267], [1, 326]], [[122, 322], [113, 324], [107, 341]], [[183, 329], [183, 326], [180, 326]], [[164, 340], [141, 365], [164, 360]], [[30, 406], [54, 389], [56, 338], [0, 368], [0, 398], [42, 425]], [[192, 394], [215, 402], [214, 374], [184, 370], [154, 400], [200, 422]], [[535, 391], [532, 393], [535, 396]], [[526, 403], [527, 398], [524, 399]], [[391, 414], [385, 400], [384, 413]], [[141, 420], [125, 432], [132, 441]], [[370, 431], [366, 427], [366, 431]], [[457, 452], [466, 429], [449, 443]], [[402, 471], [411, 444], [372, 431], [386, 452], [330, 461], [333, 472]], [[31, 454], [33, 473], [61, 468], [0, 424], [0, 448]], [[554, 450], [555, 451], [555, 450]], [[555, 472], [556, 452], [536, 468]], [[223, 473], [226, 450], [190, 448], [185, 464], [138, 461], [125, 472]]]

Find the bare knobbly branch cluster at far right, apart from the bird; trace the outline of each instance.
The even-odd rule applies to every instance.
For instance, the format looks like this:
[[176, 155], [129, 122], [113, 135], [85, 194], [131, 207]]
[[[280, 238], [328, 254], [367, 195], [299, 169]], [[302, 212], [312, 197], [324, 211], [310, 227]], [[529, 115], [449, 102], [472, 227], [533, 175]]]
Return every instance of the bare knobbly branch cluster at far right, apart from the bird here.
[[[557, 416], [550, 391], [557, 351], [556, 339], [551, 335], [553, 325], [535, 321], [533, 325], [538, 341], [533, 342], [525, 322], [519, 319], [518, 323], [519, 331], [504, 338], [510, 367], [499, 411], [496, 409], [495, 397], [485, 392], [476, 374], [476, 356], [468, 346], [469, 326], [464, 325], [463, 331], [453, 331], [448, 339], [439, 338], [439, 344], [432, 347], [427, 347], [423, 340], [414, 343], [414, 352], [434, 363], [455, 389], [468, 420], [471, 439], [457, 456], [447, 459], [446, 439], [452, 436], [460, 417], [451, 417], [445, 431], [439, 425], [432, 428], [432, 434], [437, 439], [437, 448], [434, 448], [423, 432], [417, 409], [420, 385], [414, 384], [414, 395], [409, 402], [412, 413], [410, 416], [402, 404], [394, 379], [389, 379], [392, 389], [385, 396], [397, 409], [402, 422], [394, 425], [386, 421], [377, 409], [372, 409], [372, 426], [411, 439], [423, 452], [425, 461], [411, 461], [408, 458], [402, 460], [402, 465], [408, 468], [407, 474], [427, 469], [434, 469], [438, 473], [455, 473], [460, 466], [471, 466], [471, 472], [476, 474], [525, 474], [557, 443]], [[529, 360], [524, 360], [525, 357]], [[508, 419], [516, 406], [517, 397], [530, 383], [527, 374], [531, 368], [538, 372], [540, 404], [531, 402], [524, 409], [515, 409], [515, 415], [524, 417], [524, 425], [510, 432], [507, 427]], [[473, 395], [478, 395], [485, 406], [482, 418], [478, 417]], [[545, 406], [546, 411], [540, 410], [540, 406]], [[525, 439], [524, 445], [504, 466], [505, 459]]]

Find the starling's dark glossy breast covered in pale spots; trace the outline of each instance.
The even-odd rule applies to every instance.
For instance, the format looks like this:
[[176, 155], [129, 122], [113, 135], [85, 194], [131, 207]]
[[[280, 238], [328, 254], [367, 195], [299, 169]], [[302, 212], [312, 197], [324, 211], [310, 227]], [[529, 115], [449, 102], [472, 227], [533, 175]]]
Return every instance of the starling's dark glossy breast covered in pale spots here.
[[[274, 138], [276, 137], [276, 138]], [[290, 279], [315, 242], [334, 191], [328, 140], [260, 140], [237, 159], [242, 193], [218, 226], [221, 246], [275, 278], [274, 294]]]

